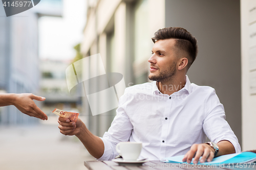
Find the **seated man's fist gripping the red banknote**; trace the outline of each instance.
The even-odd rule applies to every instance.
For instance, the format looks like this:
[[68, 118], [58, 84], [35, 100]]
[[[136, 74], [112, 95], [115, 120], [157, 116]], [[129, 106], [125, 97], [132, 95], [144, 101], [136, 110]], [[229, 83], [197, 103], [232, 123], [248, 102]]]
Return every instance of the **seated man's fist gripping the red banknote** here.
[[77, 118], [76, 123], [71, 122], [68, 118], [59, 117], [59, 130], [63, 135], [77, 135], [80, 133], [80, 128], [82, 126], [82, 121], [80, 118]]

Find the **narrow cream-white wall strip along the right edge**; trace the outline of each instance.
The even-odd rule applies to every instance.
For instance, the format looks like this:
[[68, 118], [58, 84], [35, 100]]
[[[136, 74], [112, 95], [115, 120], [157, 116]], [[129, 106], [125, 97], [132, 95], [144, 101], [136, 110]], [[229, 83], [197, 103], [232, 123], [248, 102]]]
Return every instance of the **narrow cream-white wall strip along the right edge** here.
[[[241, 50], [242, 50], [242, 140], [243, 150], [256, 149], [256, 136], [254, 130], [256, 129], [256, 95], [251, 94], [252, 82], [256, 81], [256, 70], [251, 69], [253, 63], [256, 66], [255, 47], [256, 38], [256, 1], [241, 0]], [[253, 28], [251, 30], [251, 28]], [[252, 53], [254, 51], [254, 53]], [[254, 59], [254, 62], [253, 60]], [[255, 83], [254, 83], [255, 88]]]

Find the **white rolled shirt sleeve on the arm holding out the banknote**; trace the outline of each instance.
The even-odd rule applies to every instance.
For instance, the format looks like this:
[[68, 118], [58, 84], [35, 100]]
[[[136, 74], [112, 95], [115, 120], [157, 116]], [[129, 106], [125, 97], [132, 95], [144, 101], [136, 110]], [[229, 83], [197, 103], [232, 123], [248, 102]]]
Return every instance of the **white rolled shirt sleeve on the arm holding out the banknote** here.
[[133, 125], [130, 118], [125, 113], [127, 102], [129, 102], [129, 100], [129, 95], [124, 92], [118, 101], [116, 116], [111, 124], [111, 127], [101, 138], [104, 143], [104, 153], [97, 160], [114, 159], [118, 155], [116, 152], [116, 144], [120, 141], [129, 141], [133, 130]]

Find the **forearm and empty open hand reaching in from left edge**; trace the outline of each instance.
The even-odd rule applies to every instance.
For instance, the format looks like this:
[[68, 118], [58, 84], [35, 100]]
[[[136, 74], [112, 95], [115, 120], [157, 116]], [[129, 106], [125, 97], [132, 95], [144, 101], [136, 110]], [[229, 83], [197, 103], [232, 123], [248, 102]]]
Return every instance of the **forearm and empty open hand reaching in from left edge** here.
[[36, 106], [33, 100], [44, 101], [46, 98], [30, 93], [4, 93], [0, 94], [0, 107], [13, 105], [24, 114], [40, 118], [42, 120], [47, 120], [47, 115]]

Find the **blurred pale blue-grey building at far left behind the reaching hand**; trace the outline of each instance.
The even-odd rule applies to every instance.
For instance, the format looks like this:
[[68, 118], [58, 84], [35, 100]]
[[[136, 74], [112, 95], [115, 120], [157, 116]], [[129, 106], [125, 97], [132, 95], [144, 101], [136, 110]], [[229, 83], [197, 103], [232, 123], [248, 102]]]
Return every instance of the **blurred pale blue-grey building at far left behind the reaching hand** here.
[[[54, 8], [51, 8], [54, 6]], [[61, 16], [61, 0], [44, 1], [23, 13], [6, 17], [0, 6], [0, 89], [35, 93], [39, 89], [38, 25], [40, 16]], [[37, 103], [40, 105], [40, 103]], [[14, 106], [1, 108], [1, 124], [30, 124], [38, 120]]]

